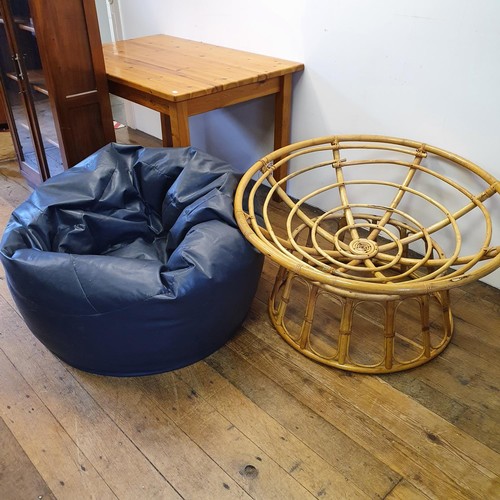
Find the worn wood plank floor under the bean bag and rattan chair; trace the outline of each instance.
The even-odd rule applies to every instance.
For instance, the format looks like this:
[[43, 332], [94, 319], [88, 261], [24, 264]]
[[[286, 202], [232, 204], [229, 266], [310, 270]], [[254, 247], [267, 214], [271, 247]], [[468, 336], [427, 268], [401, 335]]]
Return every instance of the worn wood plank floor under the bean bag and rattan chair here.
[[[2, 230], [28, 193], [17, 165], [0, 163]], [[366, 376], [318, 365], [273, 331], [275, 272], [266, 263], [221, 350], [118, 379], [48, 352], [2, 269], [0, 498], [500, 498], [500, 291], [455, 290], [455, 336], [438, 359]]]

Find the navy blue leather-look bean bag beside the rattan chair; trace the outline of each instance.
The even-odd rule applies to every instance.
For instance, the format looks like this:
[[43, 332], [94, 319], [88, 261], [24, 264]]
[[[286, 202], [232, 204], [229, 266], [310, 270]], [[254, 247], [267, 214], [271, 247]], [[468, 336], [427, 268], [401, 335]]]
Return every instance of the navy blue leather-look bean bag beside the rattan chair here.
[[160, 373], [217, 350], [263, 261], [234, 221], [238, 177], [194, 148], [110, 144], [38, 187], [0, 244], [30, 330], [103, 375]]

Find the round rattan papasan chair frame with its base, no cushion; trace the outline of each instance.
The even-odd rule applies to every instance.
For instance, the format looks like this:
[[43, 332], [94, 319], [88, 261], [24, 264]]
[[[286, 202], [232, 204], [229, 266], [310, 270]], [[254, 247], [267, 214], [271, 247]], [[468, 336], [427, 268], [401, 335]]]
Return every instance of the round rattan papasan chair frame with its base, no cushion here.
[[235, 210], [280, 266], [269, 302], [280, 335], [327, 365], [386, 373], [437, 356], [453, 333], [450, 289], [500, 266], [490, 215], [499, 193], [492, 175], [440, 148], [345, 135], [262, 158]]

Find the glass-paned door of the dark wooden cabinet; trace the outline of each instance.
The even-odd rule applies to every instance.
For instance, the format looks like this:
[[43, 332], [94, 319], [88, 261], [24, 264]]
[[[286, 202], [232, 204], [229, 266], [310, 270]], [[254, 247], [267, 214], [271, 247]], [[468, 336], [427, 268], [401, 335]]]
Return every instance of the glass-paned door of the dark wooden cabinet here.
[[39, 184], [63, 170], [28, 0], [0, 0], [1, 83], [21, 171]]

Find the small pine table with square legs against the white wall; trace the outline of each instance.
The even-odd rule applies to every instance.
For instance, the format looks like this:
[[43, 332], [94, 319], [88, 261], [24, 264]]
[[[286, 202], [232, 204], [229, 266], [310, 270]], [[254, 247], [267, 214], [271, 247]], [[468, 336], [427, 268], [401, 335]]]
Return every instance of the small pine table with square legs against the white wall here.
[[292, 75], [302, 63], [168, 35], [103, 47], [109, 91], [160, 112], [163, 145], [190, 145], [189, 116], [275, 96], [274, 146], [290, 140]]

